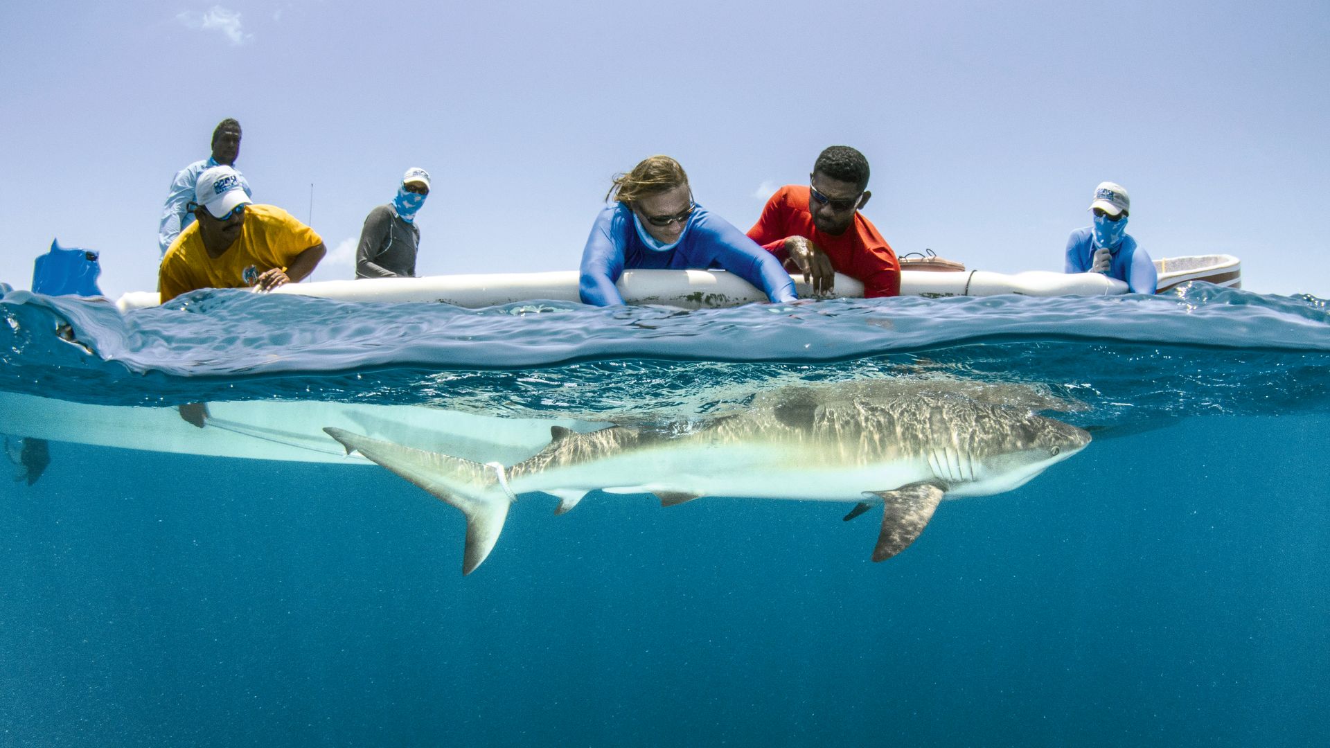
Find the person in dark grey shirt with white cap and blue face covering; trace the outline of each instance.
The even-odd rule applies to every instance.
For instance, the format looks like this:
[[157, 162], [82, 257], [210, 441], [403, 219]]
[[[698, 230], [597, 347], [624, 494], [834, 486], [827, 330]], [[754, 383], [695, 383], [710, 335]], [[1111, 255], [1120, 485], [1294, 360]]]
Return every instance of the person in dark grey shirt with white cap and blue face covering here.
[[430, 173], [411, 168], [402, 177], [392, 202], [370, 210], [355, 249], [356, 278], [415, 277], [415, 256], [420, 246], [415, 214], [428, 194]]

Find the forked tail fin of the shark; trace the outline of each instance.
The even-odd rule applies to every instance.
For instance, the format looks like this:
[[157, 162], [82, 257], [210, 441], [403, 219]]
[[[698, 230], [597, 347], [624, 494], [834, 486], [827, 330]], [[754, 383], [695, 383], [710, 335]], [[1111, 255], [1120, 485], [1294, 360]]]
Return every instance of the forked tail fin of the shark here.
[[462, 511], [467, 518], [462, 574], [475, 571], [493, 550], [513, 499], [501, 465], [480, 465], [371, 439], [342, 429], [329, 427], [323, 431], [340, 442], [347, 454], [358, 451]]

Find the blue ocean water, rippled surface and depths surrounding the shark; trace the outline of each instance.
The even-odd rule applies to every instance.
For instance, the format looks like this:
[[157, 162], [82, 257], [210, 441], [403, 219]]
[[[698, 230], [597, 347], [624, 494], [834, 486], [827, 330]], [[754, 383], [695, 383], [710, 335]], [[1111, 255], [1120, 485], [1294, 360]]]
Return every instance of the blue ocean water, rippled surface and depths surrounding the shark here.
[[[31, 486], [0, 479], [0, 745], [1330, 739], [1314, 297], [682, 313], [200, 291], [121, 317], [16, 291], [0, 314], [0, 395], [93, 414], [0, 413], [11, 446], [17, 425], [68, 437]], [[146, 443], [148, 415], [219, 401], [689, 430], [791, 386], [943, 389], [1093, 441], [943, 502], [882, 563], [850, 504], [593, 492], [563, 516], [521, 496], [463, 576], [460, 514], [379, 467], [85, 438], [144, 423]]]

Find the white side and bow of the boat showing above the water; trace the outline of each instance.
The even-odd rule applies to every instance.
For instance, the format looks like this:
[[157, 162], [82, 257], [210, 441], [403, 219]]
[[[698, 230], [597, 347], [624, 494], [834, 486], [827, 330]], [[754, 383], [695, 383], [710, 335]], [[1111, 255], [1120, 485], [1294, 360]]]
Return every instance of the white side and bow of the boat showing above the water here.
[[[1111, 295], [1127, 293], [1127, 283], [1100, 273], [991, 273], [936, 257], [900, 261], [900, 294], [954, 295]], [[1156, 260], [1158, 293], [1189, 281], [1241, 287], [1241, 264], [1229, 254]], [[817, 294], [795, 277], [801, 298]], [[579, 301], [577, 270], [547, 273], [489, 273], [424, 278], [367, 278], [290, 283], [273, 293], [313, 295], [336, 301], [439, 302], [471, 309], [523, 301]], [[724, 270], [625, 270], [618, 290], [628, 303], [661, 303], [684, 309], [738, 306], [766, 301], [766, 294]], [[863, 283], [837, 274], [835, 290], [818, 298], [862, 297]], [[129, 291], [117, 299], [121, 311], [157, 306], [157, 291]]]

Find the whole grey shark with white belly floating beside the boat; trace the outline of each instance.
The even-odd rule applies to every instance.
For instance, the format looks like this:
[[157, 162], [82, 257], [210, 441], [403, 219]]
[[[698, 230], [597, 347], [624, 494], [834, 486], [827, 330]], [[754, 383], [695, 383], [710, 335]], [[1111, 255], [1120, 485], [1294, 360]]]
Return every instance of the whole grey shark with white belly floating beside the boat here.
[[533, 457], [475, 462], [325, 431], [466, 516], [463, 575], [493, 550], [519, 495], [544, 492], [577, 506], [589, 491], [654, 494], [664, 506], [702, 496], [847, 502], [854, 519], [882, 506], [872, 560], [895, 556], [932, 519], [938, 503], [1015, 490], [1085, 449], [1091, 435], [1028, 407], [955, 393], [871, 397], [790, 387], [754, 398], [746, 411], [697, 427], [551, 427]]

